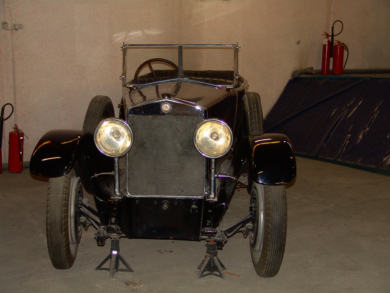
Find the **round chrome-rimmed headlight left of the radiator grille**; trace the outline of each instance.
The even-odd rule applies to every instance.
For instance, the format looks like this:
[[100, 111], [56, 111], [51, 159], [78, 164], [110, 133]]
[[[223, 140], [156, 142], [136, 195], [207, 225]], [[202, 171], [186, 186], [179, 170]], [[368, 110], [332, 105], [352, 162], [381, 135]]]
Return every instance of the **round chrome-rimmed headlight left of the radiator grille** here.
[[133, 145], [133, 132], [118, 118], [108, 118], [97, 125], [94, 135], [96, 147], [109, 157], [126, 154]]

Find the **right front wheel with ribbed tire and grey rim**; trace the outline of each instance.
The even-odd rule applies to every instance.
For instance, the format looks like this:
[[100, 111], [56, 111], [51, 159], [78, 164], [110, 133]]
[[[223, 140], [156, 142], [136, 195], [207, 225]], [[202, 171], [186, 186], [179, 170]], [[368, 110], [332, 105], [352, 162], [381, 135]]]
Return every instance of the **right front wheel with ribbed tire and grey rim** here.
[[260, 277], [274, 277], [282, 264], [287, 230], [285, 186], [252, 185], [250, 254]]

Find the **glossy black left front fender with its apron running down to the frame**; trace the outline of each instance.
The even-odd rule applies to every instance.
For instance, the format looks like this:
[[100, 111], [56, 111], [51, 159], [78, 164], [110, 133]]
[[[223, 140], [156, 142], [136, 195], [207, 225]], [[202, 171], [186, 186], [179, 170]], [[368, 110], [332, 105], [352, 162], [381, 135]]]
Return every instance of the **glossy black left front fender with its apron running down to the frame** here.
[[46, 132], [31, 155], [30, 172], [43, 177], [60, 177], [69, 173], [76, 162], [83, 187], [95, 197], [101, 224], [109, 225], [112, 204], [107, 202], [110, 195], [101, 189], [95, 174], [113, 172], [114, 161], [96, 148], [92, 133], [71, 129]]

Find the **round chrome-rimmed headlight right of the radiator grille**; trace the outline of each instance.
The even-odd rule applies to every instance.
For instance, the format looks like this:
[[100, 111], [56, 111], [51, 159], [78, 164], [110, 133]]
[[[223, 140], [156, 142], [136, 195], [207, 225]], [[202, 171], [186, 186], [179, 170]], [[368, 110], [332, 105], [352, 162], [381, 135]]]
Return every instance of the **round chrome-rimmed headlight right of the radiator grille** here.
[[201, 155], [216, 159], [230, 150], [233, 143], [232, 137], [232, 130], [224, 121], [212, 118], [202, 121], [197, 126], [194, 144]]

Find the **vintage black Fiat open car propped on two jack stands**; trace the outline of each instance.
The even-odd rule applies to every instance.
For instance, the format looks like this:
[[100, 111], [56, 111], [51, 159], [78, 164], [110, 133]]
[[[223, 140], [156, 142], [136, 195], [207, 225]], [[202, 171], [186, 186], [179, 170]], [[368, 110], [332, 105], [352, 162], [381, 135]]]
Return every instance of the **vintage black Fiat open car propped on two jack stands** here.
[[[275, 276], [285, 248], [285, 184], [296, 163], [286, 136], [263, 134], [259, 95], [238, 73], [238, 44], [121, 48], [119, 117], [110, 98], [95, 96], [82, 130], [47, 132], [30, 160], [33, 174], [50, 177], [53, 266], [70, 268], [82, 230], [93, 226], [97, 245], [112, 240], [97, 267], [110, 259], [104, 270], [112, 277], [132, 271], [119, 255], [119, 238], [144, 238], [205, 240], [199, 277], [224, 278], [217, 250], [242, 232], [257, 274]], [[147, 61], [130, 77], [141, 58]], [[248, 213], [223, 227], [237, 186], [248, 190]]]

